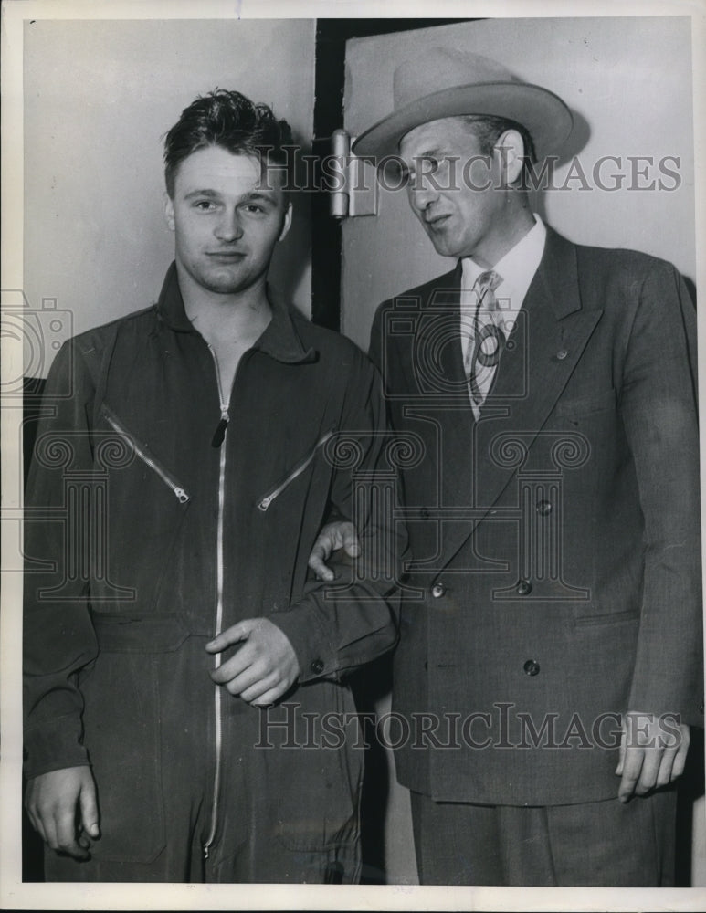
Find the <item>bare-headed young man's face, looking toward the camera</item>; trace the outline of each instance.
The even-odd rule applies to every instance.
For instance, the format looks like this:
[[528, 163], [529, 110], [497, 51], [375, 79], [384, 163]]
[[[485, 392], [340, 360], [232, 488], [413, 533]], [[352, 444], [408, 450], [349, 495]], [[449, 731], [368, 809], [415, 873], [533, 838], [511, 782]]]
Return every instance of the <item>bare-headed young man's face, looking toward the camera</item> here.
[[166, 216], [177, 265], [202, 289], [232, 295], [267, 275], [291, 207], [276, 169], [263, 175], [256, 157], [207, 146], [179, 164]]

